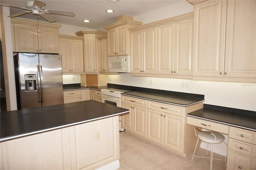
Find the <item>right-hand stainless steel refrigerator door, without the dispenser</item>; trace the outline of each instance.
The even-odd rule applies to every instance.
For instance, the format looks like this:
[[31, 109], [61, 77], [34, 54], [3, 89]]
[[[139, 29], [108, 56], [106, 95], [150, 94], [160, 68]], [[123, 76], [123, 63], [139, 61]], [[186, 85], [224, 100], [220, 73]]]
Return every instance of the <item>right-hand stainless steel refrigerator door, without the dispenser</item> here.
[[39, 54], [42, 106], [63, 104], [61, 55]]

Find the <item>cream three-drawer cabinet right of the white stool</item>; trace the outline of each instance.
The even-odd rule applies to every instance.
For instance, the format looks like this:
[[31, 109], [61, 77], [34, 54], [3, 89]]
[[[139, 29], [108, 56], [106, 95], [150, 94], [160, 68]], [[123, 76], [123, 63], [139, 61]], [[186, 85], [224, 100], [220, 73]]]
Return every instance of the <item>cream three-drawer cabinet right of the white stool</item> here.
[[230, 126], [227, 170], [256, 169], [256, 132]]

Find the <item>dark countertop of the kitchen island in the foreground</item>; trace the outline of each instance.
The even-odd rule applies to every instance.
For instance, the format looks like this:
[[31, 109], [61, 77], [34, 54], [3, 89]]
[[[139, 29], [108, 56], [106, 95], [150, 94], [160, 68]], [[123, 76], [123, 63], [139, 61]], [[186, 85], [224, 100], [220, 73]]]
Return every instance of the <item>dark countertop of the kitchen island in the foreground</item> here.
[[0, 141], [127, 112], [129, 110], [94, 100], [0, 112]]

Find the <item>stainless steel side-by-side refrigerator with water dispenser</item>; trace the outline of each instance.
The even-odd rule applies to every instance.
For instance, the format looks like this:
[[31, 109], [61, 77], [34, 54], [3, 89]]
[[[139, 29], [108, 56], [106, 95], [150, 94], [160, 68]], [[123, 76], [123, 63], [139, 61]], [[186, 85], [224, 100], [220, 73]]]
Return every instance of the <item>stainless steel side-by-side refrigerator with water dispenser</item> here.
[[18, 109], [63, 104], [61, 55], [14, 53]]

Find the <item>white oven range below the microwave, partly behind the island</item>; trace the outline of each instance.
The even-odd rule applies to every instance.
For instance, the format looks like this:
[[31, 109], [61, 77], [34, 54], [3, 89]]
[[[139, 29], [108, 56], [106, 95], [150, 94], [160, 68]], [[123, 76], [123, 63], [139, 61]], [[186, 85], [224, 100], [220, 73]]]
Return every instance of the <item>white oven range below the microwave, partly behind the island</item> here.
[[[116, 88], [107, 88], [101, 90], [102, 103], [111, 104], [117, 107], [121, 107], [121, 93], [130, 92], [130, 90], [122, 90]], [[119, 116], [119, 131], [124, 131], [121, 128], [121, 115]]]

